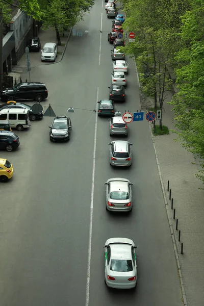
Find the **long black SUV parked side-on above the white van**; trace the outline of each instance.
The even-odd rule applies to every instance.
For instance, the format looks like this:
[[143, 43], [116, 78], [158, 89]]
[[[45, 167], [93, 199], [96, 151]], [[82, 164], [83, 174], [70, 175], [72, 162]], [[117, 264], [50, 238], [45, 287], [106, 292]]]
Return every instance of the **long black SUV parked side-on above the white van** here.
[[19, 83], [13, 88], [6, 88], [1, 92], [0, 96], [3, 101], [35, 100], [40, 102], [47, 98], [48, 92], [44, 83], [28, 82]]

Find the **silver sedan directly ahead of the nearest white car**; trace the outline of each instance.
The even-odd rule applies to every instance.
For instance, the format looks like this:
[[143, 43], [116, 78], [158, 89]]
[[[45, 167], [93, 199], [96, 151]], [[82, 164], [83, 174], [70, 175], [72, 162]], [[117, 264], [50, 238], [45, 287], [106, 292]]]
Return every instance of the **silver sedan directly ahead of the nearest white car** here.
[[131, 183], [127, 179], [114, 177], [106, 183], [106, 210], [130, 212], [133, 208]]

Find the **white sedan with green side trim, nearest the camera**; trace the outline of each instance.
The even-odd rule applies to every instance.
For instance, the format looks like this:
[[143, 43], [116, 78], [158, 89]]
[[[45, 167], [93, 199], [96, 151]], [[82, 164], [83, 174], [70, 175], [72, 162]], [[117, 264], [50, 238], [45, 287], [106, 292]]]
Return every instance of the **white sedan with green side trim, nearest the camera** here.
[[134, 242], [127, 238], [110, 238], [105, 248], [105, 283], [116, 289], [137, 285], [137, 262]]

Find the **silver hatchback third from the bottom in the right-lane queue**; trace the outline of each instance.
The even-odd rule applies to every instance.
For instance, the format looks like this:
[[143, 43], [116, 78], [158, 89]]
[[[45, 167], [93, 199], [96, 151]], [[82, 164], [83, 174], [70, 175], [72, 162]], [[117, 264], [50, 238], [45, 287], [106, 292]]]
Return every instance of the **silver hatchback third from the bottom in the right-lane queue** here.
[[109, 145], [111, 166], [130, 167], [132, 165], [132, 143], [129, 141], [114, 140]]

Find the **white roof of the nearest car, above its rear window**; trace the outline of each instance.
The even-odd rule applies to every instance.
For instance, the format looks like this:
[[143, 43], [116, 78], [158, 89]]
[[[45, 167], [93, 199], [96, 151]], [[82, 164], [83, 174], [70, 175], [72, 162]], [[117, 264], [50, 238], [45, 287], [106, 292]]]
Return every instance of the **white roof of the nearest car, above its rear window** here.
[[111, 244], [111, 259], [130, 260], [132, 259], [132, 246], [129, 244]]

